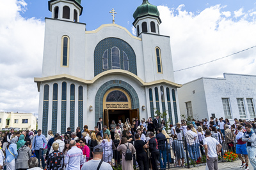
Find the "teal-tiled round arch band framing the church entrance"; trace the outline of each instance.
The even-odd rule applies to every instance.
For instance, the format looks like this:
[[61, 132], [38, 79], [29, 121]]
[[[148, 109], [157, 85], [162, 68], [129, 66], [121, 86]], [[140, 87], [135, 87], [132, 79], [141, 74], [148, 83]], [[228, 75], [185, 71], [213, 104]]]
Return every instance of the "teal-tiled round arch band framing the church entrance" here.
[[137, 109], [140, 108], [140, 101], [137, 92], [135, 89], [125, 81], [122, 80], [110, 80], [106, 83], [104, 83], [99, 90], [97, 91], [97, 94], [95, 96], [95, 123], [99, 121], [100, 117], [103, 117], [103, 98], [110, 89], [122, 89], [124, 90], [131, 99], [131, 109]]

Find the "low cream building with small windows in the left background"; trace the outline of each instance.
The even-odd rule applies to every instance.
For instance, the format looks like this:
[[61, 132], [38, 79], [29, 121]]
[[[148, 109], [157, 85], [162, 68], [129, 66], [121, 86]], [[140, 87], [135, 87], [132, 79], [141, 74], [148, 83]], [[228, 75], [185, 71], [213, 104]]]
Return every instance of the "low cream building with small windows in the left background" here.
[[36, 117], [32, 113], [0, 112], [0, 131], [11, 127], [19, 130], [35, 130]]

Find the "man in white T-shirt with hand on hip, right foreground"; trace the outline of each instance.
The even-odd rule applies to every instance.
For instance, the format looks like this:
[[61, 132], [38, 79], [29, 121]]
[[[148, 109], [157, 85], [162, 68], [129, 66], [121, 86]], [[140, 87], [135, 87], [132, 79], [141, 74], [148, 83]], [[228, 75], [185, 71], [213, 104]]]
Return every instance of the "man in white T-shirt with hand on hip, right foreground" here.
[[[206, 163], [209, 169], [218, 170], [218, 154], [222, 148], [220, 143], [211, 137], [211, 131], [205, 131], [206, 138], [203, 140], [205, 155], [206, 155]], [[216, 150], [217, 146], [217, 150]]]

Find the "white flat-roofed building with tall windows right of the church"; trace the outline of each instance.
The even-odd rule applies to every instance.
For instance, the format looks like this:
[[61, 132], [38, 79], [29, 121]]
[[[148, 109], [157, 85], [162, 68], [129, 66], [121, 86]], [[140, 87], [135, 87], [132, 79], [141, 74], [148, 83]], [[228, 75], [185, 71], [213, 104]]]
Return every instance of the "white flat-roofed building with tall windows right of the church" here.
[[224, 73], [224, 78], [198, 78], [178, 90], [180, 115], [202, 120], [216, 117], [255, 118], [256, 76]]

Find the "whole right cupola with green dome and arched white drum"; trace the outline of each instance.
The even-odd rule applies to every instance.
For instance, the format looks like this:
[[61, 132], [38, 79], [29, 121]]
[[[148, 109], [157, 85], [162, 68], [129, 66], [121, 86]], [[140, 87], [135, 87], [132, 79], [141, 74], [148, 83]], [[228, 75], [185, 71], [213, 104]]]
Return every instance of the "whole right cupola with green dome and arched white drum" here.
[[136, 27], [137, 36], [141, 32], [159, 34], [159, 24], [162, 22], [160, 13], [157, 6], [150, 4], [148, 0], [143, 0], [143, 3], [133, 13], [133, 18], [132, 24]]

